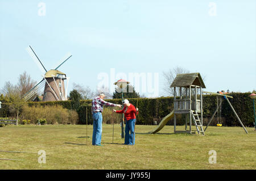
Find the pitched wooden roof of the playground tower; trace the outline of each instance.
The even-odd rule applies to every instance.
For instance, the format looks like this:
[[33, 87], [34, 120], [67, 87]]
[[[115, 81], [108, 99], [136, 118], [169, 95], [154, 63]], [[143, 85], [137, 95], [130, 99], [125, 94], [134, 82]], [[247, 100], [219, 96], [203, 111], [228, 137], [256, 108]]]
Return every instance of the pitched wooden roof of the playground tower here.
[[206, 88], [200, 73], [177, 74], [171, 87], [201, 86]]

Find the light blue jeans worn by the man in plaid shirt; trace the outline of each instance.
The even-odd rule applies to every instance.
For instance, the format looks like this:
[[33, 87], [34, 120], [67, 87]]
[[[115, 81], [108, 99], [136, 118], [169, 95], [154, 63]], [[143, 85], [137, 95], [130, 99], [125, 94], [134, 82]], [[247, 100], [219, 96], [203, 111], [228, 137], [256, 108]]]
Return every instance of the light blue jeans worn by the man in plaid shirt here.
[[101, 144], [101, 133], [102, 133], [102, 114], [101, 112], [93, 112], [92, 145]]

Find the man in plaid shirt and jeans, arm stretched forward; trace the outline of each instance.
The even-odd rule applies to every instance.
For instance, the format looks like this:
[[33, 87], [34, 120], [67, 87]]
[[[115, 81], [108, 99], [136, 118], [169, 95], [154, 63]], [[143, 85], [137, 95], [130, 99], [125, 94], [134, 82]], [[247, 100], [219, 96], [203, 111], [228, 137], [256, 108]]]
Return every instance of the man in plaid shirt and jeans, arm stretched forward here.
[[101, 134], [102, 134], [102, 111], [103, 106], [112, 106], [112, 107], [122, 107], [120, 104], [112, 104], [103, 100], [105, 98], [104, 94], [96, 96], [92, 101], [92, 113], [93, 113], [93, 137], [92, 145], [102, 146], [101, 145]]

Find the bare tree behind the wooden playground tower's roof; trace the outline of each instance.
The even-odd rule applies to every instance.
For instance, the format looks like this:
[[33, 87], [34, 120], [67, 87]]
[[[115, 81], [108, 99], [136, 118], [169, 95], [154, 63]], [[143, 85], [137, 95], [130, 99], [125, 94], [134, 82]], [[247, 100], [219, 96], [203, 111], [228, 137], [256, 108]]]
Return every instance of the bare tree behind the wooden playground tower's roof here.
[[[189, 70], [183, 69], [179, 66], [176, 66], [173, 69], [170, 69], [168, 71], [163, 71], [163, 77], [164, 77], [164, 93], [168, 96], [174, 96], [174, 88], [170, 87], [172, 82], [174, 82], [174, 79], [176, 77], [177, 74], [187, 74], [189, 73]], [[182, 92], [181, 94], [184, 94], [184, 92]]]

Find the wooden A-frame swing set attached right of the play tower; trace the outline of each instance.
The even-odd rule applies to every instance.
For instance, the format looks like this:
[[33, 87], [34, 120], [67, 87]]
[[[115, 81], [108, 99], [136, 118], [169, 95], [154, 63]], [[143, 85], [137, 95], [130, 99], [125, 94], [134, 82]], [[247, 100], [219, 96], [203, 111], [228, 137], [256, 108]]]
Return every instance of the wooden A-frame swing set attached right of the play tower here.
[[221, 121], [221, 104], [222, 104], [222, 98], [224, 98], [229, 103], [229, 106], [232, 108], [232, 111], [236, 115], [238, 121], [242, 125], [243, 129], [245, 130], [245, 132], [248, 134], [247, 130], [245, 129], [245, 126], [243, 125], [242, 121], [238, 117], [238, 115], [237, 115], [236, 111], [234, 110], [232, 104], [229, 102], [228, 98], [233, 98], [232, 96], [226, 95], [226, 94], [224, 94], [224, 92], [217, 92], [217, 93], [215, 93], [215, 92], [206, 92], [206, 91], [203, 91], [203, 92], [205, 94], [217, 95], [217, 98], [216, 98], [217, 99], [217, 108], [214, 111], [212, 117], [210, 118], [210, 120], [209, 120], [209, 122], [207, 124], [207, 127], [205, 127], [204, 132], [207, 130], [208, 126], [210, 125], [210, 122], [213, 120], [213, 117], [216, 115], [216, 113], [217, 113], [217, 123], [218, 123], [217, 127], [221, 127], [222, 126], [222, 121]]

